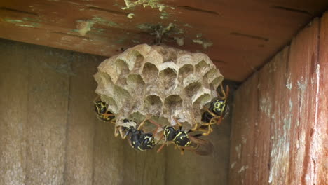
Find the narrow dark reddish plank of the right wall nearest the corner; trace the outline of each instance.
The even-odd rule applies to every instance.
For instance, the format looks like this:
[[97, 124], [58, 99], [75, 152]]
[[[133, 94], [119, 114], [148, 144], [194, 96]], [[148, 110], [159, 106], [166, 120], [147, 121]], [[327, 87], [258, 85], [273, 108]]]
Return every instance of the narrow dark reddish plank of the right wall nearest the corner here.
[[[255, 73], [235, 92], [233, 118], [231, 124], [230, 169], [228, 184], [247, 184], [254, 170], [255, 128], [258, 123], [257, 90], [259, 73]], [[248, 180], [247, 180], [248, 181]]]

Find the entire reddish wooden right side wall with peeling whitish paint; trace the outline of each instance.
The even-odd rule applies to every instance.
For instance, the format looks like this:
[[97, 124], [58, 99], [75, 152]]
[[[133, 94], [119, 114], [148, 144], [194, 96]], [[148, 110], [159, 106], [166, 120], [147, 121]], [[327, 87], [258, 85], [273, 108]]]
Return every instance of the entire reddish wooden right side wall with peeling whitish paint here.
[[[318, 18], [310, 22], [290, 47], [238, 89], [230, 184], [327, 184], [327, 162], [322, 160], [327, 158], [327, 90], [322, 85], [327, 83], [327, 25], [327, 14], [321, 27]], [[254, 91], [254, 99], [247, 96]], [[252, 107], [254, 101], [258, 106]], [[247, 121], [254, 115], [252, 131]], [[242, 143], [244, 135], [250, 139]], [[235, 163], [238, 155], [242, 159]], [[238, 165], [247, 168], [233, 168]]]

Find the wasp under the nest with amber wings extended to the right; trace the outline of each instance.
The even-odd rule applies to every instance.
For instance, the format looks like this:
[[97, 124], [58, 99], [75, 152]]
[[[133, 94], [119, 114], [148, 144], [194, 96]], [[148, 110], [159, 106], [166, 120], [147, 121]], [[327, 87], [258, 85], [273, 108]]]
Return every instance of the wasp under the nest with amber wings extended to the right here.
[[176, 125], [179, 125], [179, 128], [167, 125], [163, 127], [163, 137], [165, 138], [165, 142], [162, 146], [160, 146], [157, 152], [160, 152], [167, 142], [172, 142], [180, 149], [181, 154], [184, 154], [184, 150], [193, 151], [202, 156], [212, 153], [212, 143], [210, 141], [197, 138], [202, 134], [191, 135], [191, 132], [196, 130], [198, 124], [196, 124], [193, 129], [186, 131], [182, 130], [182, 124], [179, 123], [176, 118], [173, 119], [177, 123]]

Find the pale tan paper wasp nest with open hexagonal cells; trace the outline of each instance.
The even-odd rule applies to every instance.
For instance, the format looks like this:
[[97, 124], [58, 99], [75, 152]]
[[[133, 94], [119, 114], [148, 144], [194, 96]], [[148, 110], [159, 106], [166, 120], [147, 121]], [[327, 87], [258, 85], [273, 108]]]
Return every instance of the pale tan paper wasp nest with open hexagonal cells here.
[[[175, 125], [175, 117], [187, 128], [200, 123], [201, 109], [217, 97], [223, 80], [203, 53], [146, 44], [104, 60], [94, 77], [96, 93], [116, 114], [116, 126], [128, 126], [125, 118], [141, 123], [151, 116], [160, 125]], [[146, 124], [144, 130], [151, 128]]]

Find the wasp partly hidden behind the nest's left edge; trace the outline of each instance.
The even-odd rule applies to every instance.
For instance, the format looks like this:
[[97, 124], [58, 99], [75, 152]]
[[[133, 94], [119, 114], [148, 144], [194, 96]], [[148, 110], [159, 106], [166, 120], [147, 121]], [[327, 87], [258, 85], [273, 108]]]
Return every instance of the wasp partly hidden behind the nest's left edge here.
[[102, 102], [99, 100], [99, 97], [97, 97], [93, 103], [95, 105], [97, 118], [101, 121], [111, 121], [111, 123], [115, 123], [115, 115], [108, 110], [108, 104], [106, 102]]

